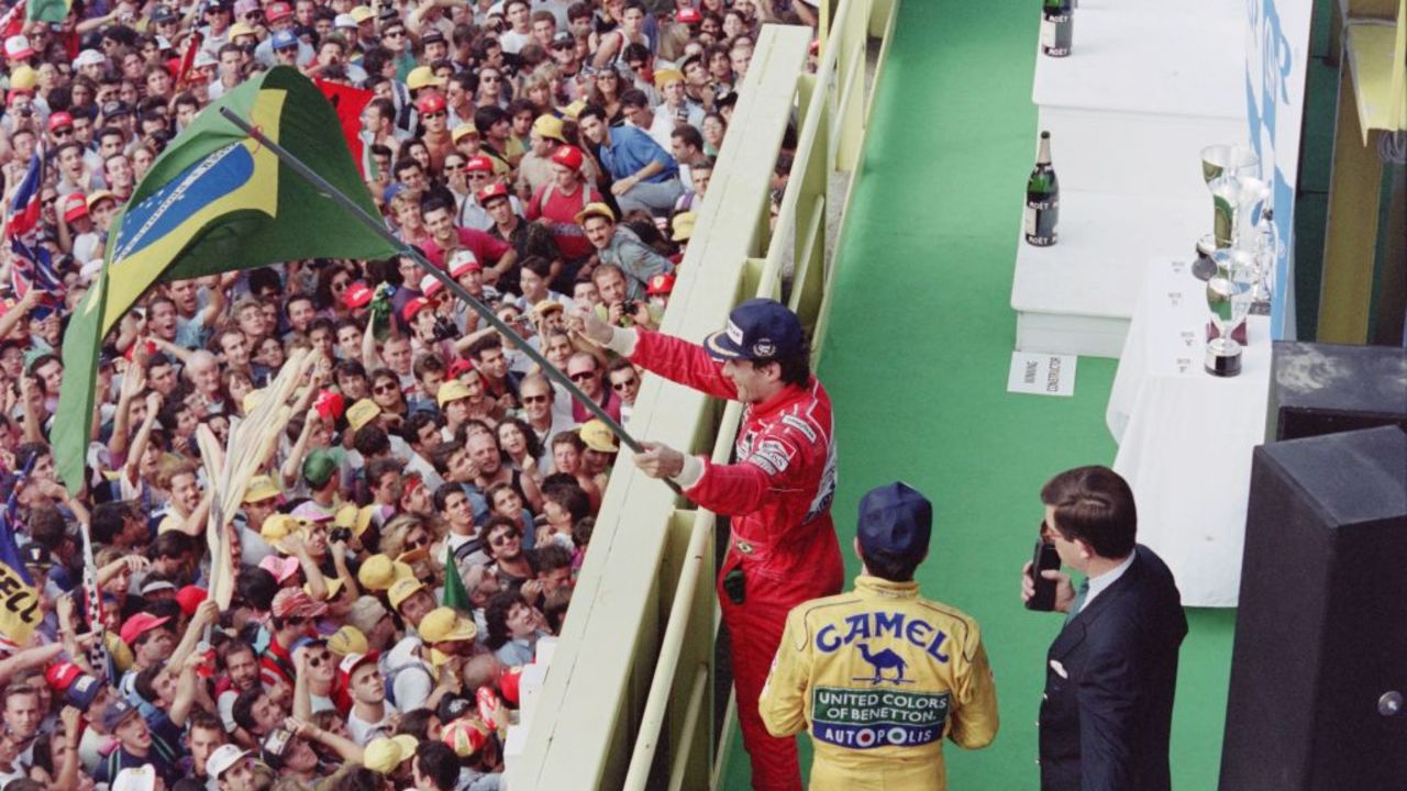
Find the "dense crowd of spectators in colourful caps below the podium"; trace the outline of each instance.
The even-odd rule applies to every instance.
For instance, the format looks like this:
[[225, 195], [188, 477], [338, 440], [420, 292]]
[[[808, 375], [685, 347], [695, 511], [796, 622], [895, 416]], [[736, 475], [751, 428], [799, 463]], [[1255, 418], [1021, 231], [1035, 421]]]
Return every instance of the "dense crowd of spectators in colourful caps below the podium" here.
[[[564, 315], [658, 324], [760, 25], [816, 21], [810, 0], [356, 1], [7, 18], [4, 205], [42, 159], [63, 289], [23, 287], [0, 251], [0, 495], [41, 615], [0, 643], [4, 791], [498, 788], [521, 670], [590, 550], [612, 431], [409, 258], [145, 294], [104, 341], [86, 487], [66, 490], [63, 329], [122, 203], [208, 103], [274, 66], [371, 91], [357, 166], [387, 224], [628, 424], [640, 372]], [[221, 609], [198, 435], [228, 442], [298, 357], [291, 419], [224, 528]]]

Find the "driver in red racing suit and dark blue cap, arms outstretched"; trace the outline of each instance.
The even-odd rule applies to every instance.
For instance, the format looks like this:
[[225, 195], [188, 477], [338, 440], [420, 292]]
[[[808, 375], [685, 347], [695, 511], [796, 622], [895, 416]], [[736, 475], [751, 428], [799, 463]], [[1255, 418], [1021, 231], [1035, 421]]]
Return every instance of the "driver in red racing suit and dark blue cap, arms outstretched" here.
[[749, 300], [704, 346], [612, 328], [585, 311], [577, 312], [575, 327], [646, 370], [747, 404], [736, 463], [715, 464], [649, 442], [635, 460], [646, 474], [674, 479], [694, 502], [732, 517], [718, 593], [732, 640], [753, 788], [796, 791], [796, 740], [767, 732], [757, 700], [791, 608], [844, 586], [830, 521], [836, 491], [830, 397], [810, 376], [801, 322], [777, 301]]

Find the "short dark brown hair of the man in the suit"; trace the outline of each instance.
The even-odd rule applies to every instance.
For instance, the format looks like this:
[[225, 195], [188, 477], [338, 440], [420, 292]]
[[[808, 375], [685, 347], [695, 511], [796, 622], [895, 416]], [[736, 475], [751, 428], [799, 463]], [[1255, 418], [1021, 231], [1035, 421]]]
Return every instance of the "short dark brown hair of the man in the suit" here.
[[1134, 550], [1138, 510], [1124, 479], [1102, 466], [1075, 467], [1041, 487], [1041, 502], [1055, 508], [1055, 528], [1083, 540], [1095, 555], [1117, 560]]

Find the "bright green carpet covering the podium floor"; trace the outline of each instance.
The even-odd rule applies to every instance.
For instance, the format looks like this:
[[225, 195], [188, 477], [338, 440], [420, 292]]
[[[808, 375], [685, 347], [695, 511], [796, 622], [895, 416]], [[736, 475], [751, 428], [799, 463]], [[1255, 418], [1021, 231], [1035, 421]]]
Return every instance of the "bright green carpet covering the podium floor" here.
[[[1114, 360], [1082, 357], [1074, 398], [1006, 393], [1012, 266], [1036, 155], [1037, 17], [1033, 3], [903, 3], [819, 372], [836, 405], [841, 546], [860, 497], [903, 479], [934, 502], [924, 594], [983, 629], [1002, 729], [981, 752], [947, 745], [953, 788], [1038, 781], [1037, 707], [1061, 621], [1021, 607], [1020, 566], [1041, 484], [1067, 467], [1109, 464], [1116, 449], [1104, 426]], [[1173, 787], [1214, 788], [1234, 612], [1189, 611], [1189, 621]], [[747, 776], [734, 733], [723, 787], [747, 788]]]

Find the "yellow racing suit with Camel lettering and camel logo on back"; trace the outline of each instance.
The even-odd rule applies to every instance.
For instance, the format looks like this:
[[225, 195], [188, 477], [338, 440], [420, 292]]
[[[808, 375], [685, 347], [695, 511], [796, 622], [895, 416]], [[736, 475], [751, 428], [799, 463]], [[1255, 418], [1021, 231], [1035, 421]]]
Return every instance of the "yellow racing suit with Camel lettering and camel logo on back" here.
[[998, 725], [976, 621], [868, 576], [788, 614], [760, 709], [774, 736], [809, 729], [817, 791], [946, 788], [943, 739], [985, 747]]

